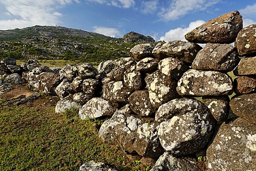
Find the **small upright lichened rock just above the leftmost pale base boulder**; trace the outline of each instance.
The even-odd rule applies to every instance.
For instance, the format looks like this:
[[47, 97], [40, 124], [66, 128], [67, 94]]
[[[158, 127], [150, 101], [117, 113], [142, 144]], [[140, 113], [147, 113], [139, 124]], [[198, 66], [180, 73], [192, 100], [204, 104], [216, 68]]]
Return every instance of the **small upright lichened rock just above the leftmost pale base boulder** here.
[[60, 99], [63, 99], [69, 95], [69, 92], [71, 90], [70, 87], [71, 82], [67, 79], [64, 79], [56, 88], [55, 93]]

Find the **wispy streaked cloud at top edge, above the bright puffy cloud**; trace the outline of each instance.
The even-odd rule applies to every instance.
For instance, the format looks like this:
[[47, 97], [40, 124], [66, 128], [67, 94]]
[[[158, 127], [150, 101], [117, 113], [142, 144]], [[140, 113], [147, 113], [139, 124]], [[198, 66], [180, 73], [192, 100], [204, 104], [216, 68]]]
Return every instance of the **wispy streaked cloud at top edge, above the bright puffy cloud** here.
[[173, 0], [169, 7], [162, 8], [158, 15], [162, 20], [178, 20], [181, 16], [193, 11], [204, 11], [207, 7], [217, 4], [220, 0]]

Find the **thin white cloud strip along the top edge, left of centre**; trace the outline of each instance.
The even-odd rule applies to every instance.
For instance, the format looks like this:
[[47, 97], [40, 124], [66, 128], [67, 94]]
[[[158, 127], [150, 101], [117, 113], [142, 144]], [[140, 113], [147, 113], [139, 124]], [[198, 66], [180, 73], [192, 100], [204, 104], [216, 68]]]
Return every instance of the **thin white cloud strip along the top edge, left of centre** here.
[[99, 4], [107, 4], [113, 5], [116, 7], [130, 8], [134, 6], [134, 0], [85, 0], [87, 2], [99, 3]]

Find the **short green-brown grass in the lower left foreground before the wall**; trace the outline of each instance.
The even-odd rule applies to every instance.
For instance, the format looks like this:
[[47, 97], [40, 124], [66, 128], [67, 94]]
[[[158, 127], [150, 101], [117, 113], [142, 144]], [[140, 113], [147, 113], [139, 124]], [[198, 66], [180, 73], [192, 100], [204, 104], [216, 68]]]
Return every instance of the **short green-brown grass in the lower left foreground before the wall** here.
[[53, 105], [1, 106], [0, 170], [79, 170], [90, 160], [118, 170], [150, 168], [103, 143], [95, 129], [102, 122], [83, 121], [75, 110], [56, 114]]

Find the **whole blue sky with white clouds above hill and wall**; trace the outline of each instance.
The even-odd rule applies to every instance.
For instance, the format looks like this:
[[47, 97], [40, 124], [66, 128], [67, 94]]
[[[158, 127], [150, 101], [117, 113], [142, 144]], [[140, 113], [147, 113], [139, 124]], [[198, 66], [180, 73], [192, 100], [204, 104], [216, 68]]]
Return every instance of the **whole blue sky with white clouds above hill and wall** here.
[[117, 38], [135, 31], [185, 40], [188, 31], [235, 10], [244, 26], [256, 24], [254, 0], [0, 0], [0, 30], [60, 25]]

